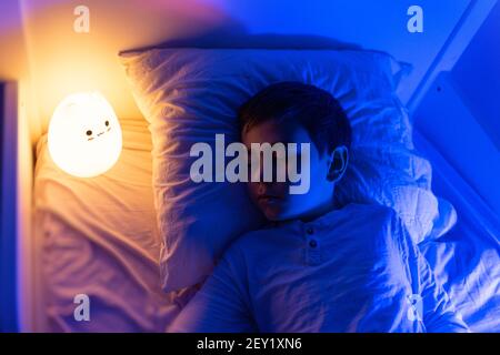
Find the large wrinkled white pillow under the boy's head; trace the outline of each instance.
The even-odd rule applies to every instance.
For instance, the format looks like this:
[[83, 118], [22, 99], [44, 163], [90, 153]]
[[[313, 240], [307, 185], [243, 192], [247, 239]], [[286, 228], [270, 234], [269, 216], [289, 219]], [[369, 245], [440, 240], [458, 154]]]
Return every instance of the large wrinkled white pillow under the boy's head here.
[[270, 83], [301, 81], [331, 92], [352, 125], [351, 164], [338, 202], [392, 206], [416, 242], [431, 233], [438, 202], [431, 168], [413, 152], [407, 111], [394, 93], [401, 67], [368, 51], [152, 49], [121, 54], [150, 123], [153, 189], [164, 245], [163, 288], [202, 282], [217, 258], [262, 217], [243, 184], [193, 183], [189, 156], [216, 133], [238, 141], [237, 110]]

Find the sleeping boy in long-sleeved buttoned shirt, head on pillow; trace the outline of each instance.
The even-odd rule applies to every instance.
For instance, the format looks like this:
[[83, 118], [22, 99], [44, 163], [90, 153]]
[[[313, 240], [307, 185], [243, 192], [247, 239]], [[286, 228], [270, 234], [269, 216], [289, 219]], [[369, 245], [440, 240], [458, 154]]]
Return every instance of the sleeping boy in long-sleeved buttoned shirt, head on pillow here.
[[[171, 332], [467, 332], [389, 207], [334, 204], [351, 130], [327, 91], [272, 84], [239, 112], [242, 142], [310, 143], [310, 189], [250, 182], [269, 221], [239, 237]], [[298, 153], [300, 154], [300, 152]]]

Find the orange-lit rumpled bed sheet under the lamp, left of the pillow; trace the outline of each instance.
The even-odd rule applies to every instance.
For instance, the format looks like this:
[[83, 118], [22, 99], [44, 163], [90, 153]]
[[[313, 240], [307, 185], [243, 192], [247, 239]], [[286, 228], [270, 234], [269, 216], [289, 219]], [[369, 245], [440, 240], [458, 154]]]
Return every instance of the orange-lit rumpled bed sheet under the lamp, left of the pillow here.
[[[47, 331], [163, 332], [180, 310], [178, 295], [160, 287], [147, 122], [120, 122], [120, 160], [94, 179], [63, 173], [47, 136], [38, 143], [34, 225]], [[90, 321], [74, 317], [80, 294], [89, 297]]]

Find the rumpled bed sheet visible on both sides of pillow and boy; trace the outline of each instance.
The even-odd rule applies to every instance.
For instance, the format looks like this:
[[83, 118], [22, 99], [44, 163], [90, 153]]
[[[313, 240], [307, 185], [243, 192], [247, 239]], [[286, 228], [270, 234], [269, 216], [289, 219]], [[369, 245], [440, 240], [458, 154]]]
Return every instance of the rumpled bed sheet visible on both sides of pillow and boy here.
[[[121, 159], [97, 179], [60, 172], [48, 155], [47, 136], [37, 145], [34, 225], [43, 245], [48, 331], [163, 332], [181, 307], [183, 295], [163, 293], [160, 286], [147, 122], [121, 119]], [[470, 190], [457, 185], [453, 170], [418, 132], [416, 142], [459, 216], [454, 229], [421, 248], [471, 329], [498, 332], [498, 221], [481, 211]], [[462, 189], [447, 190], [447, 181]], [[459, 204], [460, 199], [469, 203]], [[78, 294], [91, 300], [90, 322], [73, 317]]]

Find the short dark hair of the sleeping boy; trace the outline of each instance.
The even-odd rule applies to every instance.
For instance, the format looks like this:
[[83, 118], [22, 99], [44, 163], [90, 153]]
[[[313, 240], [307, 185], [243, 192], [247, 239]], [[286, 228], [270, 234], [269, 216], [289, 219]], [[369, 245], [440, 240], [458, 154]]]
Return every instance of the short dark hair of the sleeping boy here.
[[301, 82], [267, 87], [240, 108], [238, 118], [242, 133], [269, 120], [296, 121], [321, 153], [351, 145], [351, 125], [340, 103], [328, 91]]

